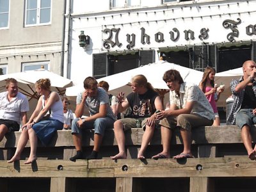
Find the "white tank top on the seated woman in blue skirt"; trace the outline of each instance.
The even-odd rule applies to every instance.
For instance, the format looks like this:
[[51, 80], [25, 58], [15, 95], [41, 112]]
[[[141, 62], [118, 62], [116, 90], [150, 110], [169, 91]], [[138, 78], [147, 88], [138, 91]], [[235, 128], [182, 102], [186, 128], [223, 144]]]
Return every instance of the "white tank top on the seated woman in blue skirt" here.
[[[59, 95], [60, 98], [60, 95]], [[42, 106], [44, 108], [44, 95], [42, 95]], [[49, 113], [49, 111], [47, 112]], [[61, 123], [64, 122], [64, 115], [63, 115], [63, 105], [61, 99], [54, 102], [51, 106], [51, 118], [54, 120], [59, 120]]]

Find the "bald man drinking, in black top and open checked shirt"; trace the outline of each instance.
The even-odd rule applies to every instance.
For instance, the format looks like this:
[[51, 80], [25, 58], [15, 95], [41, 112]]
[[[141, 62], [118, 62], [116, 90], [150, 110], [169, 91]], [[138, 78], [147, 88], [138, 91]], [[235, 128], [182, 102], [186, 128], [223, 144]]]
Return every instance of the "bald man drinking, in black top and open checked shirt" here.
[[256, 147], [252, 148], [252, 136], [250, 129], [256, 124], [256, 64], [254, 61], [243, 63], [243, 76], [230, 83], [232, 97], [234, 99], [230, 115], [227, 121], [241, 128], [241, 138], [247, 150], [248, 157], [256, 159]]

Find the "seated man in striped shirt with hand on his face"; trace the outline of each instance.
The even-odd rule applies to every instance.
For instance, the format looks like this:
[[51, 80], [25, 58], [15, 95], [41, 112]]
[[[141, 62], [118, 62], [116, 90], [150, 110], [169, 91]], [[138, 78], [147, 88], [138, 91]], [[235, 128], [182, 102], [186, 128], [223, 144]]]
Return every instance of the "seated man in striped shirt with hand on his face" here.
[[[81, 129], [95, 129], [93, 151], [86, 159], [97, 159], [104, 131], [106, 128], [113, 129], [116, 120], [109, 105], [108, 93], [104, 89], [98, 88], [94, 77], [86, 77], [84, 92], [77, 95], [76, 103], [75, 115], [79, 118], [72, 121], [71, 129], [77, 154], [70, 157], [70, 161], [83, 159]], [[82, 119], [84, 108], [89, 110], [90, 116]]]

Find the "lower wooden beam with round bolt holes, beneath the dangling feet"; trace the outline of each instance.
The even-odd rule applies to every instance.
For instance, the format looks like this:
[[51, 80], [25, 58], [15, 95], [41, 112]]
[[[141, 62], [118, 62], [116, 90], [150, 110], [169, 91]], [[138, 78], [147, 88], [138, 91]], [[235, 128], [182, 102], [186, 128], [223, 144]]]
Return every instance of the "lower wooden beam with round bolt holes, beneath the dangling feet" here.
[[255, 177], [256, 161], [246, 156], [118, 161], [0, 161], [0, 177]]

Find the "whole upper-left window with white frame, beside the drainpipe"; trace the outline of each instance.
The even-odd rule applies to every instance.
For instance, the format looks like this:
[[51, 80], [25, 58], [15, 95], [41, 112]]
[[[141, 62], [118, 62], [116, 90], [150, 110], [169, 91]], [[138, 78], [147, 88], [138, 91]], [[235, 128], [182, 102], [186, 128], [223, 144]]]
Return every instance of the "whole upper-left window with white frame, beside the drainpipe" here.
[[35, 26], [51, 22], [51, 0], [26, 0], [26, 24]]

